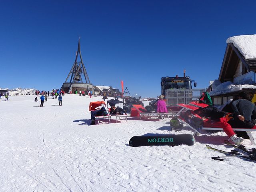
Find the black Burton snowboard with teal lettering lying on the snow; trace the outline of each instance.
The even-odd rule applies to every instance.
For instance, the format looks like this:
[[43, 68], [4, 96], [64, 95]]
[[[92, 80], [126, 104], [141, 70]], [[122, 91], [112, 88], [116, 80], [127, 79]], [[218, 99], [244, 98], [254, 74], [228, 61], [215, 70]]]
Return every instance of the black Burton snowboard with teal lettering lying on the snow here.
[[190, 134], [155, 134], [150, 136], [133, 136], [129, 141], [129, 146], [153, 146], [153, 145], [194, 145], [196, 142], [193, 135]]

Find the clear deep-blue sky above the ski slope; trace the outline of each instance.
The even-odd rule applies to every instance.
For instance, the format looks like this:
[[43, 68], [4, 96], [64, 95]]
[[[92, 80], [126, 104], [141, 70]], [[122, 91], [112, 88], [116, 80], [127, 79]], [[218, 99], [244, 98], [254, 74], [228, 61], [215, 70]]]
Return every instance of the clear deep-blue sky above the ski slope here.
[[156, 97], [164, 76], [206, 88], [226, 39], [256, 34], [254, 0], [0, 1], [0, 87], [60, 88], [82, 58], [94, 85]]

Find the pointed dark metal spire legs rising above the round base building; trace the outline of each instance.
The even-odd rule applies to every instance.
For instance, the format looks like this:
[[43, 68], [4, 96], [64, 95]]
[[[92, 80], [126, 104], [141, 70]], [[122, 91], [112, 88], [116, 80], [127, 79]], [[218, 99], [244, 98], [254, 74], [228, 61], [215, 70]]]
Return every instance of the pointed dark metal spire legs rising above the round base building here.
[[[80, 56], [80, 59], [78, 59], [78, 56]], [[80, 60], [80, 61], [79, 61]], [[70, 77], [70, 83], [83, 83], [82, 74], [84, 74], [84, 79], [86, 83], [90, 84], [90, 80], [88, 77], [88, 74], [86, 72], [86, 69], [84, 67], [84, 62], [82, 60], [81, 50], [80, 50], [80, 38], [78, 40], [78, 48], [76, 52], [76, 60], [68, 74], [68, 77], [66, 78], [65, 83], [68, 81], [68, 78]]]

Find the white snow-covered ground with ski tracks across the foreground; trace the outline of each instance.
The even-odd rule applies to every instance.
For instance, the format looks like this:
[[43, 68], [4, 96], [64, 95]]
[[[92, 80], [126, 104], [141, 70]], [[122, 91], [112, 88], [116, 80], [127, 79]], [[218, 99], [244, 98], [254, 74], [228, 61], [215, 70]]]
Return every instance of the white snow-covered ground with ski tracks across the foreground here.
[[[223, 132], [200, 134], [194, 146], [128, 146], [132, 136], [192, 134], [170, 131], [169, 121], [139, 120], [90, 124], [89, 103], [102, 97], [74, 94], [63, 105], [48, 97], [0, 100], [1, 192], [254, 192], [256, 164], [206, 149], [222, 150]], [[256, 134], [254, 134], [256, 137]], [[252, 147], [252, 146], [248, 146]]]

